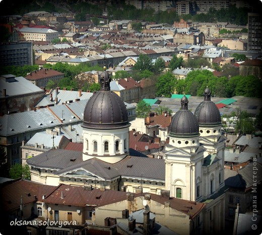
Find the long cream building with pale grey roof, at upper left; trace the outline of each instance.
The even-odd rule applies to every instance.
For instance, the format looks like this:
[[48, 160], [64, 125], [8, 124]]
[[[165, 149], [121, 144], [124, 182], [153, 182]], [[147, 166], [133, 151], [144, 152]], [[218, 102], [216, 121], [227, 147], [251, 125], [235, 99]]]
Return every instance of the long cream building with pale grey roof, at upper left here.
[[19, 30], [21, 39], [25, 41], [47, 41], [58, 38], [59, 32], [45, 28], [22, 28]]

